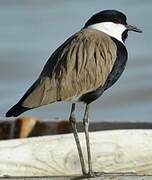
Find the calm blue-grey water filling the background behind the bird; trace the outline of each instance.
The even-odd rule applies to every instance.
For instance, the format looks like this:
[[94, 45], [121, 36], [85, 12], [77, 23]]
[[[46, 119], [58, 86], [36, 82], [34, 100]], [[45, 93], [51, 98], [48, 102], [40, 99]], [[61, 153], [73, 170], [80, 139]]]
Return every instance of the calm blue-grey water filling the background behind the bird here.
[[[93, 13], [118, 9], [143, 33], [129, 34], [126, 70], [111, 89], [92, 103], [91, 119], [151, 121], [151, 8], [149, 0], [0, 0], [0, 116], [22, 97], [51, 53], [81, 29]], [[82, 107], [78, 107], [79, 117]], [[66, 118], [69, 110], [69, 103], [58, 103], [25, 114]]]

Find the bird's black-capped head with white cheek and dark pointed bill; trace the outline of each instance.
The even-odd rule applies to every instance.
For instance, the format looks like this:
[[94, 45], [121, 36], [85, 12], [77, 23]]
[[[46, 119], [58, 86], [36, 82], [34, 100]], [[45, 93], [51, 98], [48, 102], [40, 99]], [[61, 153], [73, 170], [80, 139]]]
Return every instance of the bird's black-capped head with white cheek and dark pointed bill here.
[[86, 22], [84, 28], [93, 28], [102, 31], [122, 43], [125, 42], [128, 31], [142, 32], [137, 27], [129, 25], [126, 16], [116, 10], [104, 10], [94, 14]]

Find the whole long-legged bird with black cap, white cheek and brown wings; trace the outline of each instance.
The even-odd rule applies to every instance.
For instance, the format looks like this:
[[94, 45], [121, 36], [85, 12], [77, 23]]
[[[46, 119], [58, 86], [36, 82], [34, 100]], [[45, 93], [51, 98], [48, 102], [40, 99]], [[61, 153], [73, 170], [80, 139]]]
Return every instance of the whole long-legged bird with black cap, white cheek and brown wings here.
[[[128, 59], [125, 42], [129, 31], [142, 32], [128, 24], [126, 15], [118, 10], [97, 12], [86, 21], [82, 29], [52, 53], [37, 80], [6, 113], [6, 117], [16, 117], [47, 104], [71, 102], [69, 125], [74, 134], [82, 174], [89, 177], [95, 175], [89, 138], [90, 104], [110, 88], [124, 71]], [[82, 122], [87, 168], [75, 118], [75, 107], [80, 102], [85, 105]]]

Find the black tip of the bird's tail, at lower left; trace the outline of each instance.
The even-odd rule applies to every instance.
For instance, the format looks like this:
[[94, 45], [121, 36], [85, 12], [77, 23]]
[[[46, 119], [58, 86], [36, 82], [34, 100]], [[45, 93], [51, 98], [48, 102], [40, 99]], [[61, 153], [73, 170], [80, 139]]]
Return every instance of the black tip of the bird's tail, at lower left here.
[[13, 106], [7, 113], [6, 113], [6, 117], [11, 117], [11, 116], [19, 116], [20, 114], [22, 114], [25, 111], [30, 110], [31, 108], [27, 108], [27, 107], [23, 107], [20, 104], [16, 104], [15, 106]]

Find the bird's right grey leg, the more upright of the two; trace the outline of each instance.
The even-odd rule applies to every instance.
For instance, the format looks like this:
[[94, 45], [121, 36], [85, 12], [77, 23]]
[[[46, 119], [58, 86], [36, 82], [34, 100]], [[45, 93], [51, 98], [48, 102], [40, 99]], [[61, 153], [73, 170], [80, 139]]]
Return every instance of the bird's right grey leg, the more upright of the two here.
[[89, 140], [89, 104], [86, 104], [85, 113], [83, 117], [83, 125], [84, 125], [87, 154], [88, 154], [88, 168], [89, 168], [88, 175], [92, 176], [93, 172], [92, 172], [92, 161], [91, 161], [90, 140]]

